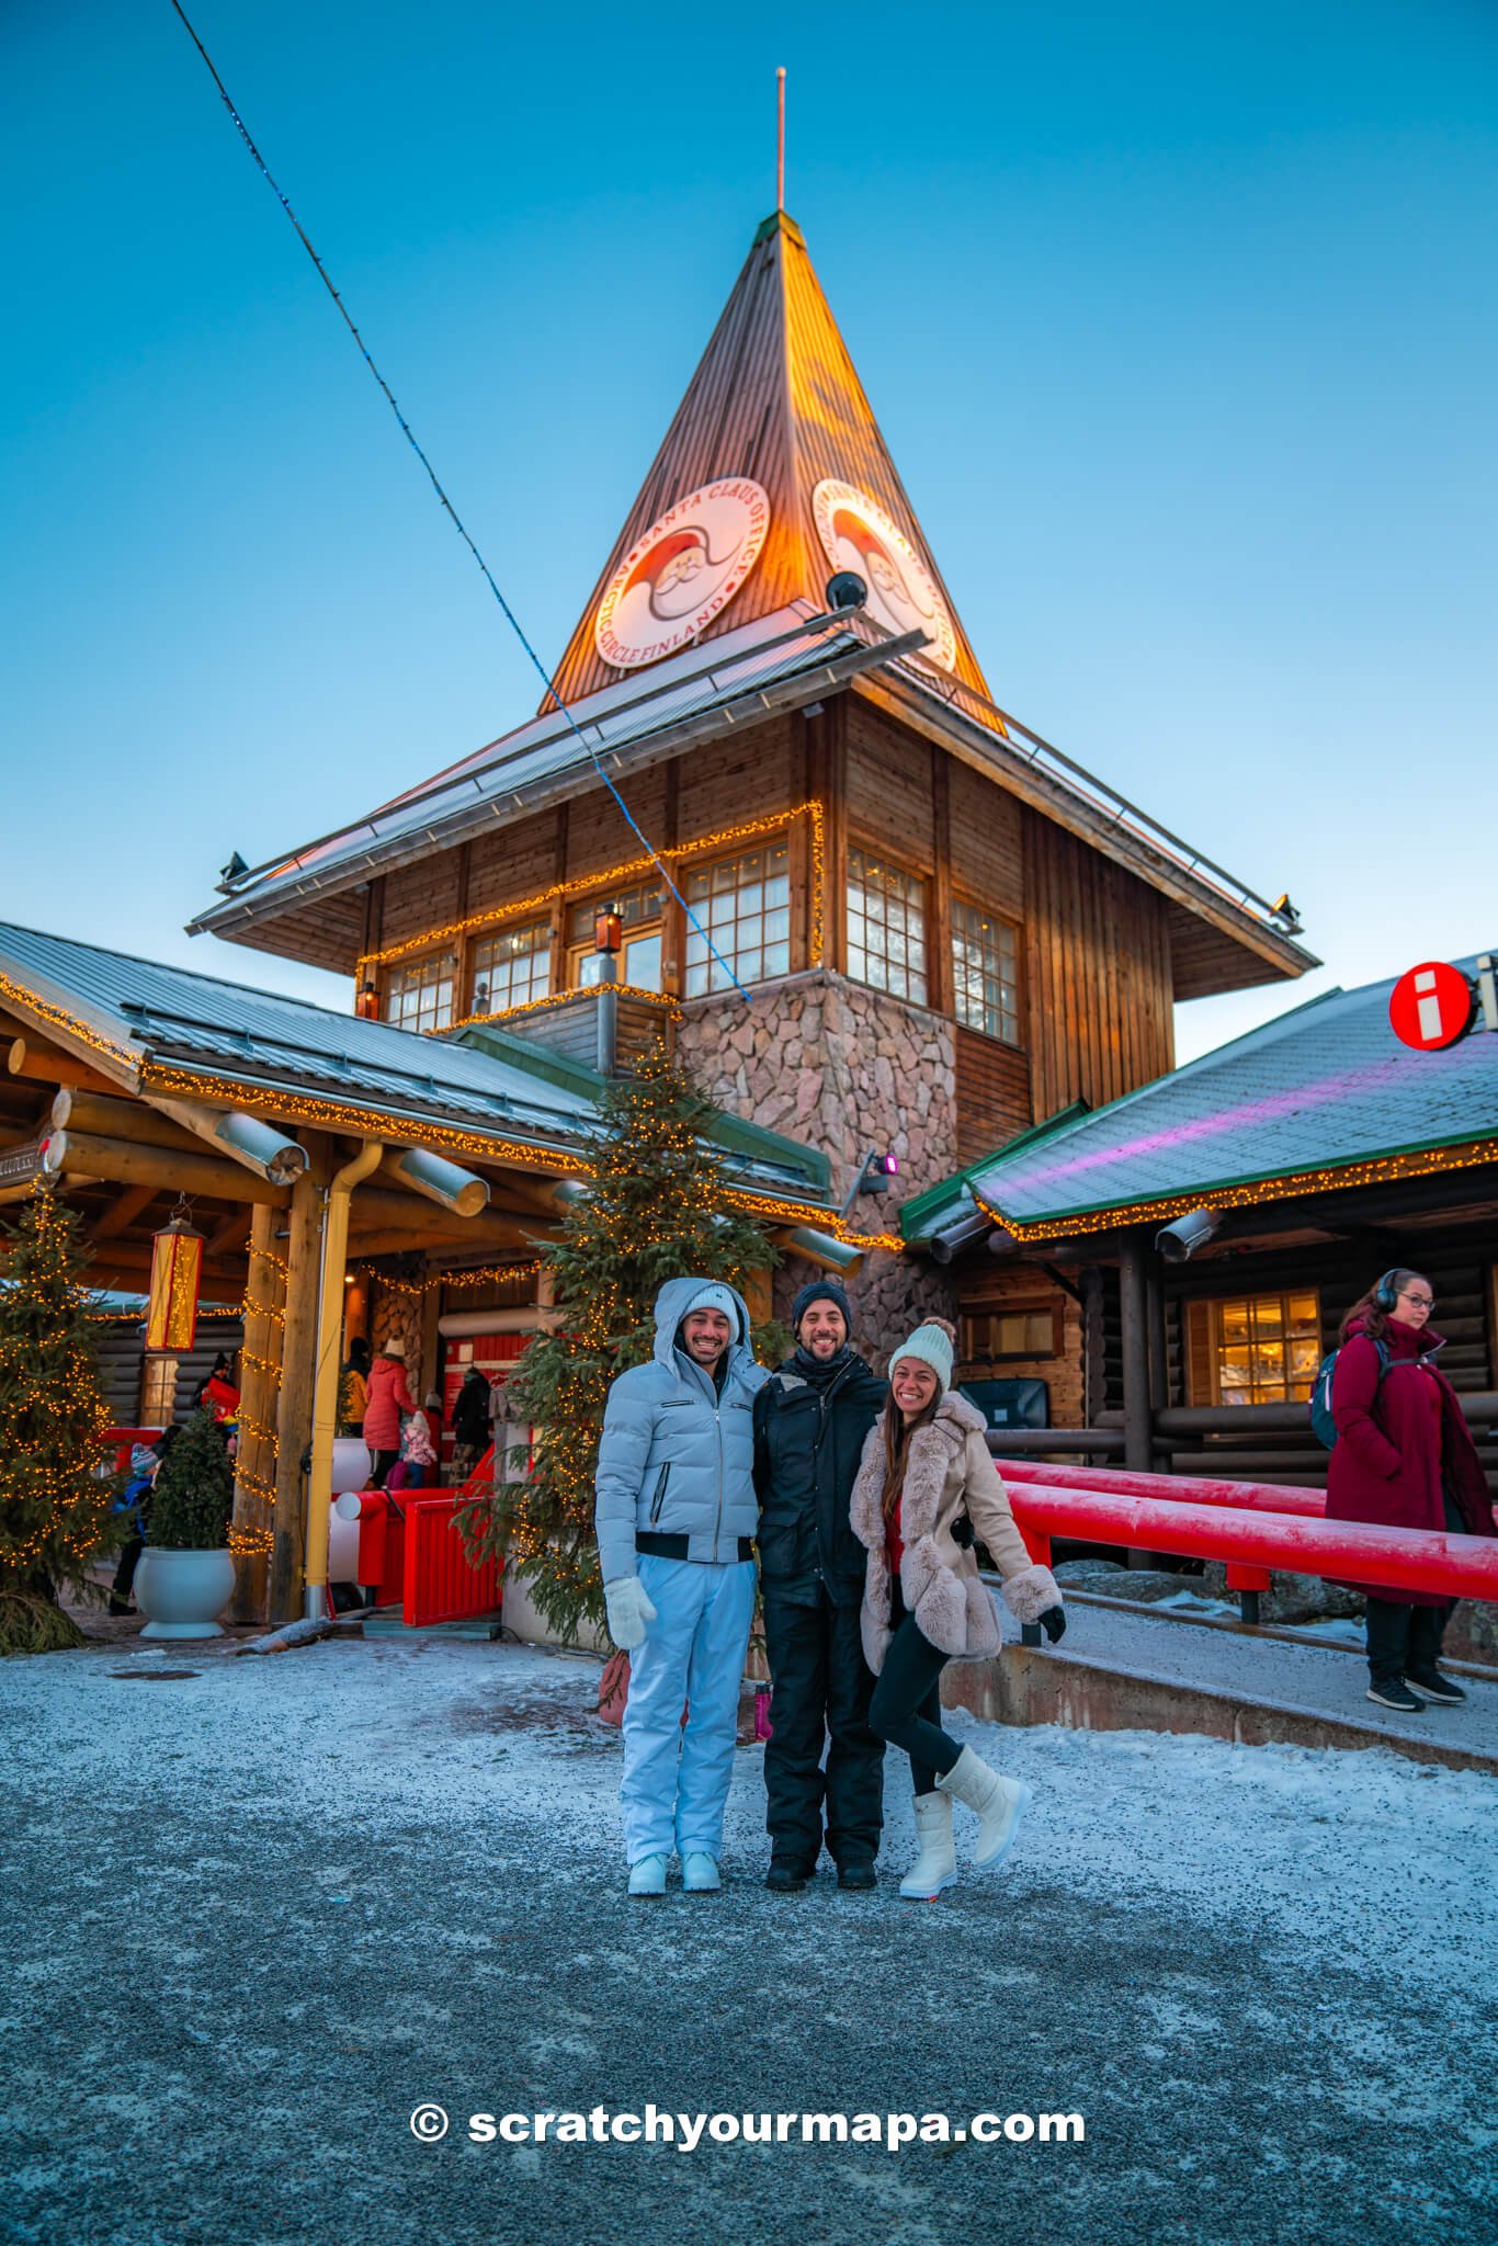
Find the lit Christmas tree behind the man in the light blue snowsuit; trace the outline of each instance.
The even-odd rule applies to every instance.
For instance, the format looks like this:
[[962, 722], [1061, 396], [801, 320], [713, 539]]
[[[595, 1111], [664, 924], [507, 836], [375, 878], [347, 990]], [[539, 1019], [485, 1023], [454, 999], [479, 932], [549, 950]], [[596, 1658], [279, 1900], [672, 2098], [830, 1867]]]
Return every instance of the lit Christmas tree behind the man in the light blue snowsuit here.
[[[721, 1278], [741, 1294], [777, 1262], [764, 1231], [725, 1208], [723, 1168], [705, 1145], [712, 1101], [651, 1047], [636, 1076], [600, 1101], [593, 1184], [546, 1251], [555, 1332], [537, 1334], [510, 1381], [510, 1410], [535, 1428], [535, 1467], [463, 1507], [472, 1559], [508, 1550], [552, 1631], [566, 1642], [602, 1624], [604, 1586], [593, 1541], [593, 1473], [609, 1384], [656, 1345], [656, 1294], [669, 1278]], [[784, 1354], [764, 1327], [759, 1354]]]

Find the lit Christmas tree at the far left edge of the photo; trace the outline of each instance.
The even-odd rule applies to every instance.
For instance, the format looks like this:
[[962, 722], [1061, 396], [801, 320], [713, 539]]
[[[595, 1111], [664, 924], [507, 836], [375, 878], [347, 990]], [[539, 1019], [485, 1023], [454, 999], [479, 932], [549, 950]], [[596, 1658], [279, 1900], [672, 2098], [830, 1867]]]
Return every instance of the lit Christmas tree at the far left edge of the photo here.
[[124, 1527], [112, 1478], [99, 1476], [110, 1413], [99, 1384], [90, 1296], [79, 1273], [79, 1220], [38, 1186], [9, 1229], [0, 1285], [0, 1653], [81, 1646], [58, 1606], [63, 1586], [94, 1586], [88, 1568]]

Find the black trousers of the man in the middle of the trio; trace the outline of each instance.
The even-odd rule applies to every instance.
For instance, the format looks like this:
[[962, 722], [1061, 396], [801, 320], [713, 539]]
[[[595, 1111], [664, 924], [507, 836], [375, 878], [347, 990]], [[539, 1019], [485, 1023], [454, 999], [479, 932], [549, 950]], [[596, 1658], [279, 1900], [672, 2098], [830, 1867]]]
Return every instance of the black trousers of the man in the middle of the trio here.
[[[770, 1658], [770, 1738], [764, 1781], [770, 1857], [811, 1871], [826, 1848], [835, 1864], [871, 1864], [885, 1824], [885, 1745], [869, 1729], [874, 1673], [862, 1658], [858, 1601], [817, 1588], [800, 1604], [764, 1590]], [[826, 1768], [822, 1750], [826, 1747]]]

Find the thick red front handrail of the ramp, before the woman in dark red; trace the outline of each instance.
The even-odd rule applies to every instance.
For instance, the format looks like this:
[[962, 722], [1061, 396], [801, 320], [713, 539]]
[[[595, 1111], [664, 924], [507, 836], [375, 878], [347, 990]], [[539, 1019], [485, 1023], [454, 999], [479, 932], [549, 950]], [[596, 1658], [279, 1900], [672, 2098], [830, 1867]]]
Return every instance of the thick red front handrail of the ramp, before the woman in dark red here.
[[[1134, 1476], [1134, 1480], [1157, 1480]], [[1163, 1482], [1166, 1476], [1159, 1476]], [[1188, 1489], [1181, 1478], [1177, 1489]], [[1181, 1552], [1253, 1568], [1285, 1568], [1343, 1583], [1388, 1590], [1428, 1590], [1444, 1599], [1498, 1604], [1498, 1536], [1449, 1536], [1437, 1530], [1388, 1530], [1365, 1521], [1321, 1521], [1314, 1514], [1273, 1514], [1258, 1507], [1197, 1505], [1190, 1498], [1148, 1498], [1107, 1489], [1013, 1482], [1015, 1523], [1031, 1559], [1049, 1561], [1051, 1539], [1130, 1545], [1141, 1552]]]

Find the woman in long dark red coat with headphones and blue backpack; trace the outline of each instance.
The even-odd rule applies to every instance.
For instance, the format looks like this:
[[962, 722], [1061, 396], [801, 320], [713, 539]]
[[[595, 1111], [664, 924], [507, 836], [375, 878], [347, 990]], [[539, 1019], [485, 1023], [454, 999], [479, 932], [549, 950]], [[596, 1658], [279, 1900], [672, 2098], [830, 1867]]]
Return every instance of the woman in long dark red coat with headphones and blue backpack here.
[[[1494, 1536], [1487, 1476], [1451, 1381], [1435, 1370], [1442, 1336], [1419, 1271], [1386, 1271], [1341, 1325], [1332, 1377], [1336, 1449], [1327, 1462], [1327, 1521]], [[1455, 1599], [1431, 1590], [1368, 1595], [1368, 1698], [1419, 1714], [1467, 1693], [1435, 1662]]]

